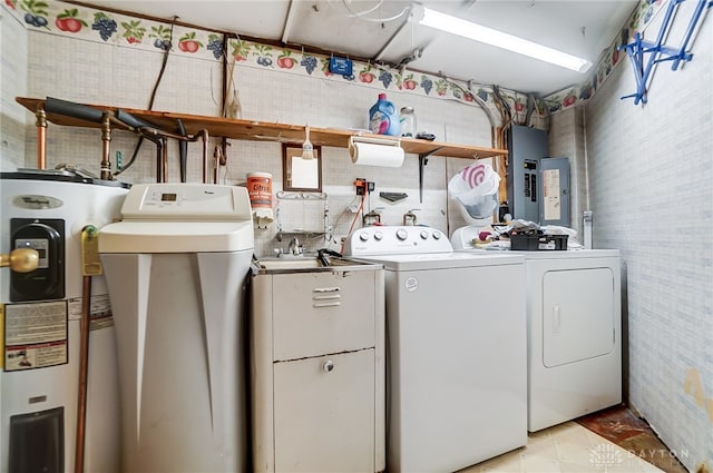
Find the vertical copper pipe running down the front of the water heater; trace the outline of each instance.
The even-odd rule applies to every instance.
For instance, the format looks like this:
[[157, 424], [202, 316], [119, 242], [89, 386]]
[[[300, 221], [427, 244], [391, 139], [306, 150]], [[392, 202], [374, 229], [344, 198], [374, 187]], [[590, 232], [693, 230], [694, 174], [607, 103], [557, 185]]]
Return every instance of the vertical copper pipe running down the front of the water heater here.
[[85, 437], [87, 425], [87, 377], [89, 367], [89, 318], [91, 315], [91, 276], [82, 277], [81, 321], [79, 325], [79, 393], [77, 395], [77, 445], [75, 473], [85, 471]]

